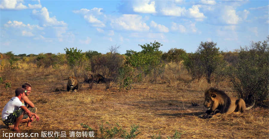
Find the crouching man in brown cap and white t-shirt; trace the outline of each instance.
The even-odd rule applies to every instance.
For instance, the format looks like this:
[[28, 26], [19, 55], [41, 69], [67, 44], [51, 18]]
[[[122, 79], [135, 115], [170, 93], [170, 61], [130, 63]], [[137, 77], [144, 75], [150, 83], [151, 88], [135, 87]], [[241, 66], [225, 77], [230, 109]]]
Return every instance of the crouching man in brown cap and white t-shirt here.
[[[14, 129], [16, 132], [20, 132], [19, 124], [27, 123], [30, 125], [33, 121], [33, 116], [36, 117], [36, 121], [39, 121], [38, 115], [31, 112], [25, 107], [25, 105], [20, 101], [22, 97], [25, 96], [27, 90], [19, 87], [15, 90], [15, 97], [11, 98], [7, 102], [2, 111], [2, 120], [10, 129]], [[25, 116], [24, 116], [25, 115]], [[26, 116], [27, 115], [27, 116]]]

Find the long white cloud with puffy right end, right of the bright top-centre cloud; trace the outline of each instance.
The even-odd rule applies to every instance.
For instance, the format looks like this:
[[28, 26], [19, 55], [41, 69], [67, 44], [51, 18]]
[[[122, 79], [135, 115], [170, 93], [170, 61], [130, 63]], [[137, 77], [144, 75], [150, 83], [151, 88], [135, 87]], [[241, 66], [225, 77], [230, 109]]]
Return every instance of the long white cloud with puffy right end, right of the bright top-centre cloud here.
[[200, 5], [193, 5], [189, 9], [185, 9], [185, 7], [163, 7], [161, 9], [161, 13], [165, 16], [180, 16], [180, 17], [187, 17], [187, 18], [200, 18], [200, 21], [203, 18], [206, 18], [203, 13], [200, 12], [199, 8]]

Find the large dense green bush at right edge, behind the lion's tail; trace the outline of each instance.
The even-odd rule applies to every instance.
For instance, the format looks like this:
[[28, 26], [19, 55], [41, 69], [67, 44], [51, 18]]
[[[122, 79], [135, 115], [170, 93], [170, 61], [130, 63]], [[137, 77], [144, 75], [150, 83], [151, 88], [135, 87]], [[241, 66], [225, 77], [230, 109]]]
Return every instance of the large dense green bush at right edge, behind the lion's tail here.
[[248, 100], [254, 95], [257, 101], [268, 99], [268, 47], [269, 36], [264, 42], [252, 42], [249, 47], [240, 48], [238, 60], [226, 69], [227, 79], [240, 98]]

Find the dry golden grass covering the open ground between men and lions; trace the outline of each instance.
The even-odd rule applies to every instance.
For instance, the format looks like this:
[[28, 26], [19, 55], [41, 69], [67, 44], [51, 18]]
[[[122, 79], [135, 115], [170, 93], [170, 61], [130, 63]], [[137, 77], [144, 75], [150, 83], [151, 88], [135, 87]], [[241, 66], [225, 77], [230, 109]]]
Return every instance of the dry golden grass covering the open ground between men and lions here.
[[[116, 87], [105, 90], [104, 84], [98, 84], [97, 88], [94, 85], [90, 90], [88, 84], [80, 84], [75, 93], [55, 92], [56, 88], [66, 90], [67, 81], [63, 79], [71, 75], [66, 67], [57, 70], [24, 67], [16, 71], [16, 76], [9, 75], [8, 71], [1, 72], [1, 76], [10, 77], [12, 87], [6, 89], [0, 84], [0, 109], [14, 96], [17, 87], [29, 82], [32, 84], [29, 98], [40, 117], [39, 122], [32, 123], [32, 129], [84, 129], [81, 123], [99, 129], [100, 124], [109, 122], [119, 123], [127, 131], [133, 124], [139, 125], [141, 133], [137, 138], [159, 134], [161, 138], [167, 138], [176, 131], [181, 133], [181, 138], [269, 138], [268, 109], [255, 108], [242, 114], [198, 118], [206, 111], [203, 91], [208, 87], [217, 86], [230, 96], [235, 94], [226, 82], [191, 81], [181, 68], [174, 72], [167, 70], [157, 84], [133, 84], [128, 92], [118, 91]], [[191, 101], [200, 106], [192, 106]], [[0, 124], [1, 129], [8, 130], [2, 121]], [[29, 129], [26, 124], [19, 128]]]

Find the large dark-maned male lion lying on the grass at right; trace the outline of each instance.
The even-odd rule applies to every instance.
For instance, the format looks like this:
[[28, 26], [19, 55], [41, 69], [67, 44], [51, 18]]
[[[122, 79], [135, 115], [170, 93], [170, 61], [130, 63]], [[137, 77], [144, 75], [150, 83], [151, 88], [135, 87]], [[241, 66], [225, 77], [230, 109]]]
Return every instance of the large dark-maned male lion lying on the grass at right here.
[[204, 106], [208, 108], [206, 113], [211, 114], [213, 112], [213, 115], [218, 112], [230, 114], [240, 111], [243, 113], [245, 110], [251, 109], [255, 104], [255, 98], [253, 97], [253, 104], [246, 108], [245, 101], [242, 98], [230, 98], [224, 91], [213, 87], [206, 90], [204, 96]]

